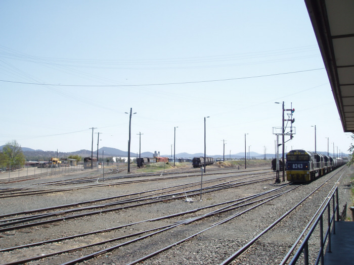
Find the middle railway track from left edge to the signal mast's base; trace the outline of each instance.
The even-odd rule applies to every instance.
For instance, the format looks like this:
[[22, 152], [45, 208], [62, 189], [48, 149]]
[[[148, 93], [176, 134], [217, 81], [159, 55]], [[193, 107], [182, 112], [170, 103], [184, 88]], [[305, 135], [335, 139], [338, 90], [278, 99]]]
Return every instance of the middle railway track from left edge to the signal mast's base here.
[[[22, 229], [32, 226], [60, 222], [89, 215], [102, 214], [107, 211], [116, 211], [124, 208], [139, 207], [142, 205], [165, 202], [167, 200], [183, 199], [187, 196], [196, 196], [200, 192], [208, 193], [222, 189], [234, 188], [242, 185], [249, 185], [260, 181], [267, 181], [274, 178], [274, 173], [263, 173], [257, 176], [238, 175], [222, 178], [213, 178], [204, 181], [204, 187], [200, 190], [200, 182], [187, 183], [183, 185], [166, 187], [159, 190], [148, 190], [144, 192], [131, 193], [115, 197], [100, 198], [90, 201], [82, 201], [66, 205], [26, 210], [17, 213], [0, 216], [0, 233]], [[153, 196], [151, 194], [154, 194]], [[98, 204], [100, 203], [100, 204]], [[76, 208], [73, 208], [78, 206]], [[73, 214], [80, 212], [79, 214]], [[60, 216], [60, 218], [58, 218]], [[54, 218], [50, 219], [49, 218]], [[36, 220], [43, 220], [33, 223]], [[22, 225], [18, 225], [22, 224]], [[17, 225], [17, 226], [15, 226]]]

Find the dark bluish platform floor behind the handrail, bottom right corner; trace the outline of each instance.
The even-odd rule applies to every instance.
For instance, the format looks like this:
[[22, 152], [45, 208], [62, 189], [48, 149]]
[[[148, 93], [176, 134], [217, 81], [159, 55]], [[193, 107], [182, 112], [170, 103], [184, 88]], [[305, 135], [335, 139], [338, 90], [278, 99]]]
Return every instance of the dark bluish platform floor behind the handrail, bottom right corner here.
[[331, 250], [325, 252], [324, 265], [354, 264], [354, 222], [335, 223], [336, 234], [331, 234]]

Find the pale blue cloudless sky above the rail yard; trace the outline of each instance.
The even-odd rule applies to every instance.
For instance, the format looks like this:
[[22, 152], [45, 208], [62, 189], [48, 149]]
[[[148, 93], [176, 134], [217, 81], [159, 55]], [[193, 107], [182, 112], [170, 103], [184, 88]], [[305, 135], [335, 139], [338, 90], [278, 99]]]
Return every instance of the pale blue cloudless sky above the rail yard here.
[[0, 34], [0, 145], [127, 151], [132, 109], [134, 153], [274, 153], [283, 101], [286, 151], [351, 144], [303, 1], [2, 0]]

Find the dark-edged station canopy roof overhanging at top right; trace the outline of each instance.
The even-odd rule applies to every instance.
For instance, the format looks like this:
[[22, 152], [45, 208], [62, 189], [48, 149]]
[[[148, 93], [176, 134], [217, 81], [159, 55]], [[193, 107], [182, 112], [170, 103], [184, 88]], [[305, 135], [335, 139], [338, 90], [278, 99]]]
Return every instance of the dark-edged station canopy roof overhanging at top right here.
[[354, 1], [305, 0], [344, 132], [354, 133]]

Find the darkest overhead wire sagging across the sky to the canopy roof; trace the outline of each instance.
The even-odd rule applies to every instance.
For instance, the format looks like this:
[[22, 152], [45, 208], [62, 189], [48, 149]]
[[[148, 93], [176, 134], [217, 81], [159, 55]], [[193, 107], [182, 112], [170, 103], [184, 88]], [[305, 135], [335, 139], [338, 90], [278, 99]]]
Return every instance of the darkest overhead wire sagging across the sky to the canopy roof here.
[[10, 80], [0, 80], [0, 81], [1, 81], [1, 82], [7, 82], [7, 83], [26, 84], [26, 85], [76, 86], [76, 87], [161, 86], [161, 85], [182, 85], [182, 84], [195, 84], [195, 83], [208, 83], [208, 82], [222, 82], [222, 81], [231, 81], [231, 80], [240, 80], [240, 79], [250, 79], [250, 78], [277, 76], [277, 75], [296, 74], [296, 73], [303, 73], [303, 72], [309, 72], [309, 71], [317, 71], [317, 70], [323, 70], [323, 69], [325, 69], [325, 68], [316, 68], [316, 69], [309, 69], [309, 70], [302, 70], [302, 71], [295, 71], [295, 72], [277, 73], [277, 74], [270, 74], [270, 75], [247, 76], [247, 77], [237, 77], [237, 78], [227, 78], [227, 79], [189, 81], [189, 82], [175, 82], [175, 83], [138, 84], [138, 85], [62, 85], [62, 84], [17, 82], [17, 81], [10, 81]]

